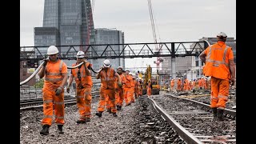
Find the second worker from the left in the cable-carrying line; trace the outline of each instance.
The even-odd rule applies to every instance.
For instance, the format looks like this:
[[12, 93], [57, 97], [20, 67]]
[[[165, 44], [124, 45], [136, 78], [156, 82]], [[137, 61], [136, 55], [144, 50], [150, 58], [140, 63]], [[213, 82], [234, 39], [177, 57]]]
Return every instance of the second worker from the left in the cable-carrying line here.
[[86, 123], [90, 122], [91, 117], [91, 88], [93, 86], [91, 72], [89, 70], [91, 64], [86, 61], [85, 53], [83, 51], [78, 51], [76, 57], [77, 62], [72, 64], [72, 66], [77, 66], [81, 62], [83, 62], [83, 64], [71, 70], [69, 82], [66, 86], [66, 92], [70, 93], [70, 86], [74, 79], [76, 83], [78, 112], [80, 114], [77, 123]]

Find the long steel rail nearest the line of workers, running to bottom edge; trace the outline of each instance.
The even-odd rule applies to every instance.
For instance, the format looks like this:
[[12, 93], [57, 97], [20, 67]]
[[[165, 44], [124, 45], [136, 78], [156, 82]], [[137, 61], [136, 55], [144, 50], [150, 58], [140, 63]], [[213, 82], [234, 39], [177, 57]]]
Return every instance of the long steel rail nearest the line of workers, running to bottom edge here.
[[178, 133], [178, 135], [187, 143], [190, 144], [203, 144], [198, 138], [196, 138], [193, 134], [188, 132], [184, 127], [182, 127], [178, 122], [174, 120], [169, 114], [166, 113], [165, 110], [162, 110], [160, 106], [152, 98], [149, 98], [152, 102], [154, 109], [158, 110], [158, 113], [162, 115], [163, 118], [172, 126], [172, 128]]

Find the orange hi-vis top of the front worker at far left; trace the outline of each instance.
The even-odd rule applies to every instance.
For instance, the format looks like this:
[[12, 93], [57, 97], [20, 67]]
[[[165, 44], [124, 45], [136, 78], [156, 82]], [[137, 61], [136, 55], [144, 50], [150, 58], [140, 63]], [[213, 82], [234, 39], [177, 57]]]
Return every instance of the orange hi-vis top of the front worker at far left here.
[[61, 86], [64, 78], [63, 74], [66, 73], [67, 66], [62, 60], [58, 59], [57, 62], [47, 62], [43, 89], [56, 90], [58, 86]]

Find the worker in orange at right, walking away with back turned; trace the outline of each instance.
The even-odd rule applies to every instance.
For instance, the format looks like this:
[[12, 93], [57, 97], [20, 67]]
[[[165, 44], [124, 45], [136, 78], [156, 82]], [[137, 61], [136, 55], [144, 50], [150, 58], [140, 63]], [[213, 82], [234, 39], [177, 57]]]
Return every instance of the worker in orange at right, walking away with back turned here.
[[224, 120], [223, 111], [228, 101], [230, 82], [235, 82], [234, 54], [230, 46], [226, 45], [226, 34], [217, 35], [217, 41], [206, 50], [202, 51], [199, 58], [206, 63], [203, 73], [210, 76], [210, 107], [213, 110], [214, 119]]

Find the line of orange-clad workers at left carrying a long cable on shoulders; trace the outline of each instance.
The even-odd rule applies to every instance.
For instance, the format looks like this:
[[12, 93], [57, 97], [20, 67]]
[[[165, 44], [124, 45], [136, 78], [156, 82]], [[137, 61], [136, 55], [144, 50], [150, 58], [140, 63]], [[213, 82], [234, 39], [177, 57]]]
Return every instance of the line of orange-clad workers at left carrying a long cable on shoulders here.
[[[49, 134], [52, 124], [53, 110], [55, 123], [58, 125], [58, 133], [63, 134], [64, 125], [64, 86], [67, 82], [66, 92], [70, 93], [70, 86], [75, 81], [76, 99], [79, 118], [77, 123], [90, 122], [91, 118], [91, 90], [93, 86], [90, 62], [86, 61], [85, 53], [78, 51], [77, 62], [72, 64], [70, 77], [68, 78], [66, 63], [58, 58], [58, 48], [50, 46], [47, 50], [48, 58], [43, 60], [43, 66], [38, 72], [39, 78], [44, 78], [42, 88], [43, 118], [40, 134]], [[123, 101], [126, 106], [135, 102], [135, 98], [142, 96], [142, 79], [135, 78], [129, 70], [123, 70], [118, 66], [117, 70], [111, 67], [110, 61], [103, 62], [101, 70], [96, 74], [101, 79], [100, 98], [98, 102], [98, 118], [108, 111], [117, 117], [117, 110], [122, 110]], [[150, 82], [149, 82], [150, 83]], [[150, 84], [149, 84], [150, 85]], [[150, 94], [150, 93], [149, 93]]]

